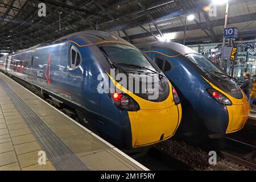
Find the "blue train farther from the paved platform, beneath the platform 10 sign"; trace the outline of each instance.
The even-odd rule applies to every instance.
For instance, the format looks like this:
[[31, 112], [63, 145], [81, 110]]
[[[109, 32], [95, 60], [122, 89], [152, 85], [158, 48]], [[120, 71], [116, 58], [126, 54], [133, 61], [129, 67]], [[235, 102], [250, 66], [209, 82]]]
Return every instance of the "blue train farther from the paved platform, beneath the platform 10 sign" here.
[[243, 128], [250, 113], [247, 97], [217, 65], [177, 43], [137, 47], [155, 61], [177, 90], [183, 107], [179, 131], [219, 138]]

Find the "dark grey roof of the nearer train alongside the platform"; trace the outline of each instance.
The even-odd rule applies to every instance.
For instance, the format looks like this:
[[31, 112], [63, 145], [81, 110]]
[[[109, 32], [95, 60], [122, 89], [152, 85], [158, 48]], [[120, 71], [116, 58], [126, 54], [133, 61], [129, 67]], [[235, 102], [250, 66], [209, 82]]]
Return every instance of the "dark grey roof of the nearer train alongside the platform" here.
[[[64, 42], [65, 40], [69, 40], [72, 38], [80, 39], [83, 42], [85, 42], [85, 44], [93, 44], [96, 42], [104, 42], [104, 41], [117, 41], [117, 42], [124, 42], [126, 44], [130, 44], [130, 43], [126, 42], [126, 40], [123, 40], [122, 38], [119, 38], [109, 32], [96, 31], [96, 30], [95, 31], [82, 31], [82, 32], [76, 32], [73, 34], [63, 36], [62, 38], [54, 40], [51, 43], [38, 44], [36, 46], [30, 47], [27, 49], [22, 49], [18, 52], [11, 53], [10, 55], [15, 55], [16, 53], [30, 51], [30, 50], [36, 49], [36, 48], [50, 46], [51, 44], [61, 43], [61, 42]], [[131, 46], [133, 46], [133, 45], [131, 44]], [[7, 55], [7, 56], [9, 56], [9, 55]]]

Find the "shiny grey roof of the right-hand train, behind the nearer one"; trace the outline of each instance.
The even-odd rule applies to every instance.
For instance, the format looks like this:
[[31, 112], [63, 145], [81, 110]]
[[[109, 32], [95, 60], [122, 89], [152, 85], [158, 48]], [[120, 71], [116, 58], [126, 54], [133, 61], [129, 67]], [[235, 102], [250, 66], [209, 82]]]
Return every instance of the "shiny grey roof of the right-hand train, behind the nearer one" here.
[[176, 52], [179, 52], [181, 55], [187, 55], [189, 53], [198, 53], [192, 48], [189, 48], [187, 46], [184, 46], [182, 44], [174, 43], [174, 42], [151, 42], [151, 43], [144, 43], [144, 44], [137, 44], [135, 45], [138, 48], [143, 48], [143, 47], [163, 47], [163, 48], [168, 48], [172, 49]]

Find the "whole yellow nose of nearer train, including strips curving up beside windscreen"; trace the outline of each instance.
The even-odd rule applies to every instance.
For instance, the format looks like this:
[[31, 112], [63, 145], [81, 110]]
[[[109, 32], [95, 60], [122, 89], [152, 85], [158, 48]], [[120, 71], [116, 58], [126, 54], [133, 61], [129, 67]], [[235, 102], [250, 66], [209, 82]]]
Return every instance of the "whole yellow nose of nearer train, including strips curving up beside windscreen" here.
[[129, 92], [113, 78], [111, 79], [117, 89], [129, 94], [141, 108], [138, 111], [128, 111], [133, 148], [154, 144], [175, 134], [180, 125], [181, 105], [175, 104], [170, 82], [168, 82], [170, 93], [167, 99], [163, 102], [152, 102]]

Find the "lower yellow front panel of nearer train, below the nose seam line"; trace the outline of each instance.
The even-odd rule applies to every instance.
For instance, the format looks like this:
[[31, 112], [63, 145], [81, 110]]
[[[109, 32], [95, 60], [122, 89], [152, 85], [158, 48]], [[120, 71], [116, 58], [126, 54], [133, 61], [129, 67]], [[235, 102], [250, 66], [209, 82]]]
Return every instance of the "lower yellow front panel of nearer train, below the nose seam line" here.
[[[180, 110], [180, 111], [179, 111]], [[131, 122], [133, 146], [144, 146], [170, 138], [175, 134], [181, 119], [181, 106], [160, 110], [139, 110], [128, 112]]]

